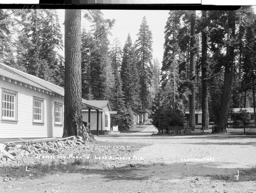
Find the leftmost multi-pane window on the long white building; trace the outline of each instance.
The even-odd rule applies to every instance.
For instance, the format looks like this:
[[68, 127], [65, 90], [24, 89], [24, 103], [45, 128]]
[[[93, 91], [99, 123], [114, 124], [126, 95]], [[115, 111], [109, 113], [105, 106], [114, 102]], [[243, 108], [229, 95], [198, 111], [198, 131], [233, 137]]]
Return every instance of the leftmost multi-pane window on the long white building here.
[[17, 92], [2, 89], [2, 119], [17, 120]]

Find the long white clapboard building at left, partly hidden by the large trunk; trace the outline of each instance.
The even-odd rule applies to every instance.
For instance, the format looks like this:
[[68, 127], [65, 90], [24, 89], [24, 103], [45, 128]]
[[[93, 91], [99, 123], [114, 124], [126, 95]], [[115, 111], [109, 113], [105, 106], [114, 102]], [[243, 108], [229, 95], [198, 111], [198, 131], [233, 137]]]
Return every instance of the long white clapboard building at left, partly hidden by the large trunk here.
[[0, 139], [62, 137], [63, 88], [0, 63], [0, 100]]

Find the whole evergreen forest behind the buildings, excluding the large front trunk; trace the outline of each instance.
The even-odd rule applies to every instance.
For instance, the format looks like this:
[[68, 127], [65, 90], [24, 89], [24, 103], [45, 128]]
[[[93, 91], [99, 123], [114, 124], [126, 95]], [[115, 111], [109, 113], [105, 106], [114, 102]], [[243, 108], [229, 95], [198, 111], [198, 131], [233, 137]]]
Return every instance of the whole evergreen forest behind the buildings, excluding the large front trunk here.
[[[114, 18], [82, 10], [91, 24], [81, 29], [82, 98], [109, 100], [119, 129], [134, 126], [133, 110], [147, 110], [159, 127], [202, 127], [225, 133], [232, 108], [254, 108], [256, 16], [239, 10], [170, 10], [164, 29], [163, 58], [153, 58], [153, 34], [141, 18], [137, 39], [125, 44], [108, 36]], [[64, 50], [54, 9], [0, 9], [0, 61], [64, 87]], [[185, 111], [189, 111], [186, 121]]]

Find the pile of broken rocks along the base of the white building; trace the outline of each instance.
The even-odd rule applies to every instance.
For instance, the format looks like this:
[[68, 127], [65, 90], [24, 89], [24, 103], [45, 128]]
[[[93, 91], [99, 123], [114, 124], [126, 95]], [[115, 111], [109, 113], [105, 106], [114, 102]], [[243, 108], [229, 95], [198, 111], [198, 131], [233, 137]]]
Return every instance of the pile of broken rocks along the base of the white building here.
[[63, 151], [67, 148], [76, 148], [84, 145], [86, 142], [82, 137], [72, 136], [63, 139], [45, 139], [45, 140], [20, 140], [15, 142], [5, 142], [0, 148], [0, 163], [14, 160], [19, 157], [36, 156], [37, 154], [53, 154]]

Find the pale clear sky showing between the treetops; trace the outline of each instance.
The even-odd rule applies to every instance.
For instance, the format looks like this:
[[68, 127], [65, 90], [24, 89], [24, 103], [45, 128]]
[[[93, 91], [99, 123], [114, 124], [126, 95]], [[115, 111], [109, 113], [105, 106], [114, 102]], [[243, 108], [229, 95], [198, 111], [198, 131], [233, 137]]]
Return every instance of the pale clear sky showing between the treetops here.
[[[64, 34], [64, 18], [65, 10], [57, 10], [59, 15], [59, 22], [61, 25], [61, 32]], [[123, 48], [130, 33], [133, 43], [137, 39], [140, 24], [143, 16], [146, 17], [147, 25], [150, 27], [153, 37], [153, 58], [158, 58], [161, 62], [163, 58], [163, 44], [164, 44], [164, 27], [168, 18], [168, 10], [101, 10], [105, 19], [116, 19], [115, 25], [111, 30], [112, 36], [109, 35], [110, 43], [113, 39], [118, 37]], [[84, 15], [81, 12], [82, 16]], [[88, 22], [82, 18], [81, 28], [88, 29]], [[64, 51], [63, 51], [64, 53]]]

